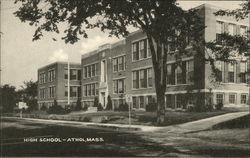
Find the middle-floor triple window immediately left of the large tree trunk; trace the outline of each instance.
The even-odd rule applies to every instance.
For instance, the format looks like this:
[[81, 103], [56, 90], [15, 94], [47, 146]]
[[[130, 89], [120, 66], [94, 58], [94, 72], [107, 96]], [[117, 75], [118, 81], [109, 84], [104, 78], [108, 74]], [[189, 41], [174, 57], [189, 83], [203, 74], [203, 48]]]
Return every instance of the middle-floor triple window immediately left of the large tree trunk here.
[[150, 88], [153, 85], [152, 68], [132, 72], [133, 89]]

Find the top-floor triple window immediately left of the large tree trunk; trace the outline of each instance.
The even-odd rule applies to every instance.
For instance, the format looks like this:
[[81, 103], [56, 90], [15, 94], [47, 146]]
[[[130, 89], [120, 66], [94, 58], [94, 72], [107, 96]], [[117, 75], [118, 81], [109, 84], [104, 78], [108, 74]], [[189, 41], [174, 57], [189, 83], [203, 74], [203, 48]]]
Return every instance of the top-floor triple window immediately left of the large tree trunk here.
[[132, 60], [137, 61], [141, 59], [146, 59], [151, 56], [150, 51], [148, 51], [148, 41], [147, 39], [139, 40], [132, 44]]

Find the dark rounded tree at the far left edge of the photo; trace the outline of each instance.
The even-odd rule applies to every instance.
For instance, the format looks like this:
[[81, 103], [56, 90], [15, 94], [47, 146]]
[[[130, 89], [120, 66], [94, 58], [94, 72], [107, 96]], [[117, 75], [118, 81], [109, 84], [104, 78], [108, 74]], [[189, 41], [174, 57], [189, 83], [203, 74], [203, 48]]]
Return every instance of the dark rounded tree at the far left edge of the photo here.
[[15, 87], [5, 84], [0, 88], [1, 110], [3, 112], [13, 112], [16, 106], [17, 97]]

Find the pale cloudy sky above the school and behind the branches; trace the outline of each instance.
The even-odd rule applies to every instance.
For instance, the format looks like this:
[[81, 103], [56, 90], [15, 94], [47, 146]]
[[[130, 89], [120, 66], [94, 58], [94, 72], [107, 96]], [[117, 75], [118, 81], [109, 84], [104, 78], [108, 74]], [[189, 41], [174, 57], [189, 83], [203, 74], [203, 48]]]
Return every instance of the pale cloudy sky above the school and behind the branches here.
[[[81, 55], [105, 43], [119, 41], [98, 29], [88, 30], [88, 38], [74, 45], [65, 44], [61, 35], [47, 33], [41, 40], [32, 42], [35, 27], [22, 23], [13, 15], [18, 9], [14, 0], [1, 1], [1, 85], [10, 84], [17, 89], [24, 81], [37, 81], [37, 69], [56, 61], [81, 62]], [[183, 9], [203, 3], [235, 9], [240, 1], [179, 1]], [[133, 29], [131, 29], [133, 30]], [[53, 41], [52, 38], [58, 39]]]

